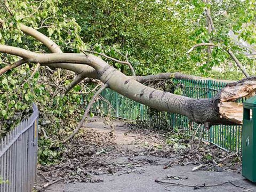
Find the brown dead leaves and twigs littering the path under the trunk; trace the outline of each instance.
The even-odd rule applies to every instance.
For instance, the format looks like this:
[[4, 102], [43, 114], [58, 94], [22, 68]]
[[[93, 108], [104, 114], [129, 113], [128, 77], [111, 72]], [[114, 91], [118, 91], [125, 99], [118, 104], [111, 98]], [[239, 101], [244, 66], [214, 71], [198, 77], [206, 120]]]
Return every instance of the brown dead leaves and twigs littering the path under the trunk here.
[[[91, 121], [95, 122], [95, 121]], [[108, 125], [109, 126], [109, 125]], [[117, 125], [115, 125], [118, 127]], [[134, 137], [129, 145], [117, 145], [115, 131], [104, 128], [102, 132], [93, 129], [82, 129], [67, 145], [59, 164], [38, 167], [38, 176], [43, 187], [45, 181], [56, 182], [102, 182], [96, 175], [142, 174], [143, 165], [164, 165], [164, 169], [174, 165], [194, 165], [193, 171], [241, 171], [241, 161], [234, 160], [233, 154], [214, 145], [200, 141], [196, 137], [188, 137], [180, 132], [140, 129], [136, 125], [124, 125], [122, 137]], [[111, 127], [110, 127], [111, 128]], [[129, 146], [129, 147], [128, 147]], [[181, 147], [179, 147], [181, 146]], [[170, 158], [170, 163], [161, 164], [156, 158]], [[117, 159], [122, 159], [118, 160]], [[61, 178], [61, 179], [60, 179]], [[59, 181], [57, 181], [60, 179]], [[186, 176], [167, 175], [168, 180], [186, 180]], [[39, 180], [39, 179], [38, 179]], [[40, 184], [41, 183], [41, 184]], [[177, 185], [177, 184], [174, 184]], [[202, 188], [201, 185], [193, 186]]]

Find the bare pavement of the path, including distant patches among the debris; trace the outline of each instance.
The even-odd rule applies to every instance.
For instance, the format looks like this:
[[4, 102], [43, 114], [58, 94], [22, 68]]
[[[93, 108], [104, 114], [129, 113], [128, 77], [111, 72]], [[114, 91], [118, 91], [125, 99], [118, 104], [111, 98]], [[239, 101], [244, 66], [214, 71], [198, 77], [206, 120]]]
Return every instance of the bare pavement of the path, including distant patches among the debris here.
[[[131, 147], [131, 143], [134, 140], [134, 135], [124, 134], [125, 126], [119, 126], [122, 122], [115, 122], [116, 125], [116, 143], [117, 145], [122, 145], [126, 147]], [[109, 131], [106, 129], [106, 126], [102, 121], [97, 121], [87, 123], [85, 125], [86, 129], [94, 129], [100, 132]], [[135, 149], [135, 148], [134, 148]], [[125, 162], [129, 157], [119, 157], [116, 161]], [[193, 187], [185, 186], [169, 186], [161, 185], [155, 182], [155, 179], [166, 178], [166, 175], [169, 177], [180, 177], [182, 180], [169, 179], [164, 180], [167, 182], [179, 182], [186, 185], [215, 185], [218, 183], [231, 181], [235, 185], [243, 186], [244, 188], [239, 188], [231, 183], [226, 183], [225, 185], [214, 186], [214, 187], [205, 187], [198, 189], [198, 191], [256, 191], [256, 185], [245, 180], [241, 174], [231, 171], [223, 172], [213, 172], [213, 171], [192, 171], [194, 166], [173, 166], [169, 169], [163, 169], [163, 164], [166, 164], [170, 161], [167, 158], [161, 157], [145, 157], [138, 156], [133, 158], [150, 158], [152, 161], [157, 161], [158, 164], [142, 164], [141, 166], [135, 167], [132, 172], [123, 172], [116, 173], [115, 175], [95, 175], [95, 179], [102, 179], [103, 182], [98, 183], [57, 183], [49, 187], [46, 191], [52, 192], [157, 192], [157, 191], [195, 191]], [[187, 179], [186, 179], [187, 178]], [[250, 190], [248, 190], [250, 189]]]

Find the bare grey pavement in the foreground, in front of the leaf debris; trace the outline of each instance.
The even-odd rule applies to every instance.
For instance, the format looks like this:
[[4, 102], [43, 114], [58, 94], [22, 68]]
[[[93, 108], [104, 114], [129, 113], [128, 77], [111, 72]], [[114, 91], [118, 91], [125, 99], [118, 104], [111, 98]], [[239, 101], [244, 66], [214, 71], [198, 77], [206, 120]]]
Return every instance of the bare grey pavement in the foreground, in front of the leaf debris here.
[[[184, 180], [165, 180], [170, 182], [186, 183], [188, 185], [203, 184], [206, 185], [232, 181], [235, 185], [246, 187], [256, 191], [256, 185], [243, 180], [241, 174], [233, 172], [210, 172], [210, 171], [195, 171], [192, 172], [192, 166], [174, 166], [170, 169], [163, 169], [162, 166], [149, 165], [140, 167], [140, 170], [145, 170], [143, 173], [130, 173], [123, 175], [101, 175], [98, 178], [103, 179], [100, 183], [69, 183], [59, 184], [49, 189], [52, 192], [158, 192], [166, 191], [167, 185], [160, 185], [155, 182], [156, 178], [165, 178], [166, 175], [188, 179]], [[195, 191], [194, 188], [170, 186], [166, 188], [173, 192]], [[243, 191], [244, 189], [235, 187], [230, 183], [221, 186], [202, 188], [199, 191]]]

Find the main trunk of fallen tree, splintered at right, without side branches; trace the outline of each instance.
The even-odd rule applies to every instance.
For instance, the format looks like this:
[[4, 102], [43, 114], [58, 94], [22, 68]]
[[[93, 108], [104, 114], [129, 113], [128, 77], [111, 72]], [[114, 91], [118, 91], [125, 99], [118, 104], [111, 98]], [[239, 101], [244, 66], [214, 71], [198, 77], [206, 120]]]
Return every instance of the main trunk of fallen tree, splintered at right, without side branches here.
[[[143, 77], [126, 76], [91, 54], [39, 54], [5, 45], [0, 45], [0, 52], [17, 55], [31, 63], [72, 70], [75, 73], [84, 66], [90, 66], [97, 72], [94, 75], [97, 75], [102, 83], [125, 97], [159, 111], [185, 115], [191, 121], [208, 125], [242, 124], [241, 105], [234, 101], [241, 97], [251, 97], [256, 90], [256, 78], [250, 77], [228, 84], [212, 99], [192, 99], [143, 85], [140, 83], [143, 82]], [[239, 112], [236, 113], [237, 111]]]

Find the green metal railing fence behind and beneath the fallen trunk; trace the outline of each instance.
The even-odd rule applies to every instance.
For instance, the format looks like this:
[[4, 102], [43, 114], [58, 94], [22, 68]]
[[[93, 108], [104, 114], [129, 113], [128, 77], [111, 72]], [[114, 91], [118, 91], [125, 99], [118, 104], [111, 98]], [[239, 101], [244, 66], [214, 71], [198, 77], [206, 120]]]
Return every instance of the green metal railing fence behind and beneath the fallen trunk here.
[[[215, 81], [192, 81], [173, 79], [181, 87], [182, 95], [190, 98], [212, 98], [225, 86], [225, 83]], [[241, 149], [242, 126], [215, 125], [205, 129], [203, 125], [190, 122], [185, 116], [168, 112], [157, 112], [149, 107], [124, 97], [110, 89], [101, 93], [103, 99], [93, 104], [92, 112], [111, 115], [131, 121], [150, 123], [162, 129], [182, 129], [187, 134], [196, 134], [222, 149], [237, 151]], [[239, 101], [239, 102], [242, 102]]]

